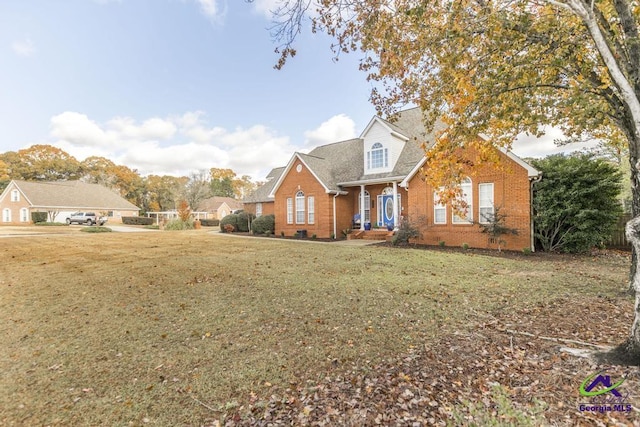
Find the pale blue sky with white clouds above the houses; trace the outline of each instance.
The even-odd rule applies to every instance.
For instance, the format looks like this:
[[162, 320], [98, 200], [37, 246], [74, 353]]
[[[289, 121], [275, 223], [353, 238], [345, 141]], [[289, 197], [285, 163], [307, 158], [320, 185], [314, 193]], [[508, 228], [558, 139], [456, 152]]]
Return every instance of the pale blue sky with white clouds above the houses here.
[[[359, 136], [375, 110], [360, 55], [303, 33], [284, 69], [277, 0], [2, 0], [0, 152], [34, 144], [141, 175], [262, 180], [293, 152]], [[559, 152], [553, 129], [522, 157]]]

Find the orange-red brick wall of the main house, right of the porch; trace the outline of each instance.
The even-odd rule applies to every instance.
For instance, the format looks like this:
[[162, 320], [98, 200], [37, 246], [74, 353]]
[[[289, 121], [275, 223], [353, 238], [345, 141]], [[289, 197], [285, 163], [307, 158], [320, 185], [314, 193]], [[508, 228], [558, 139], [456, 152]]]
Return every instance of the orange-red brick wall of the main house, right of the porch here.
[[[474, 162], [475, 154], [467, 152], [468, 158]], [[499, 167], [484, 164], [467, 174], [472, 182], [473, 220], [479, 220], [479, 184], [493, 183], [494, 206], [500, 206], [500, 212], [507, 215], [505, 225], [518, 230], [517, 235], [503, 236], [506, 241], [502, 248], [522, 250], [531, 247], [531, 193], [527, 171], [513, 162], [506, 155], [500, 153]], [[447, 223], [434, 224], [434, 189], [427, 186], [417, 174], [409, 182], [409, 217], [420, 223], [422, 232], [421, 243], [437, 245], [444, 241], [446, 246], [461, 246], [466, 243], [475, 248], [496, 248], [496, 244], [489, 241], [487, 234], [481, 232], [477, 224], [453, 224], [452, 208], [447, 206]]]

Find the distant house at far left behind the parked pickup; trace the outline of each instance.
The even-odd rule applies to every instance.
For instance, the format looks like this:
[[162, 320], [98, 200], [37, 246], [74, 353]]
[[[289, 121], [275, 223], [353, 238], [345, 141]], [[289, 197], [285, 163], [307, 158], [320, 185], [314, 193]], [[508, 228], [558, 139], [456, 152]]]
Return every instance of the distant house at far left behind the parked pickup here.
[[80, 181], [13, 180], [0, 194], [0, 225], [31, 224], [32, 212], [47, 212], [48, 221], [65, 222], [78, 211], [109, 217], [138, 216], [140, 208], [107, 187]]

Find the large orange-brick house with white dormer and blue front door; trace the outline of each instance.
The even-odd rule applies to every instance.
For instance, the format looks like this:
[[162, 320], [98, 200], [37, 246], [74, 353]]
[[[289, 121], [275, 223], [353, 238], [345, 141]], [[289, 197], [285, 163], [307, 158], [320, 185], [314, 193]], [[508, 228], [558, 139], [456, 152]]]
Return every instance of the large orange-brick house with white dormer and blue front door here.
[[[418, 108], [401, 112], [393, 123], [374, 117], [359, 138], [294, 153], [245, 199], [245, 210], [255, 212], [261, 205], [264, 213], [265, 206], [273, 206], [276, 233], [287, 236], [306, 230], [319, 238], [339, 237], [355, 228], [362, 231], [354, 234], [363, 237], [365, 223], [397, 226], [404, 217], [420, 228], [420, 243], [490, 247], [478, 222], [499, 206], [507, 215], [505, 225], [518, 230], [504, 237], [503, 247], [533, 248], [531, 185], [540, 173], [513, 153], [499, 151], [500, 167], [468, 169], [461, 185], [469, 208], [460, 218], [450, 205], [438, 204], [434, 189], [421, 179], [425, 153], [420, 143], [430, 146], [434, 140]], [[473, 150], [463, 155], [474, 163]]]

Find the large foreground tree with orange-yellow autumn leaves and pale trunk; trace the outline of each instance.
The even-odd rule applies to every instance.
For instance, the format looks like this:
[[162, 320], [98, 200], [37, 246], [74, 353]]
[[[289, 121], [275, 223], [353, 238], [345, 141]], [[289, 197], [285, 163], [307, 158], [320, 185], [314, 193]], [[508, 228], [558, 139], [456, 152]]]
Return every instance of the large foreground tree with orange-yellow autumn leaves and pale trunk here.
[[[277, 68], [295, 56], [295, 39], [308, 19], [312, 31], [336, 40], [337, 55], [363, 53], [360, 68], [376, 82], [372, 100], [379, 113], [415, 104], [429, 130], [438, 121], [446, 125], [427, 151], [426, 179], [435, 188], [454, 188], [463, 176], [456, 148], [475, 146], [491, 160], [492, 147], [509, 147], [523, 132], [541, 135], [550, 125], [570, 138], [624, 141], [632, 214], [640, 215], [636, 1], [283, 0], [274, 16]], [[636, 229], [629, 224], [630, 233]], [[640, 352], [636, 264], [637, 252], [628, 347]]]

